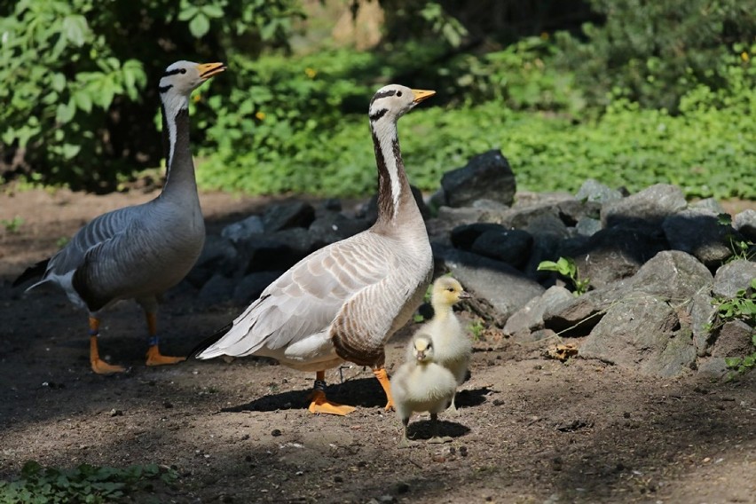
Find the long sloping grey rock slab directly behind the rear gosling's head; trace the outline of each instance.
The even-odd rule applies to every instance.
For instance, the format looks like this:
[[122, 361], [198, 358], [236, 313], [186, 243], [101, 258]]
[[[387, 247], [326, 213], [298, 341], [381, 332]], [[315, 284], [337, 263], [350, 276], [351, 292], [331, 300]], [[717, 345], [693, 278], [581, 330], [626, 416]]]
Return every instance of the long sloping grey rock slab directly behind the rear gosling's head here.
[[544, 292], [538, 283], [500, 261], [435, 244], [433, 255], [442, 267], [460, 280], [465, 289], [491, 303], [499, 318], [507, 319], [533, 297]]

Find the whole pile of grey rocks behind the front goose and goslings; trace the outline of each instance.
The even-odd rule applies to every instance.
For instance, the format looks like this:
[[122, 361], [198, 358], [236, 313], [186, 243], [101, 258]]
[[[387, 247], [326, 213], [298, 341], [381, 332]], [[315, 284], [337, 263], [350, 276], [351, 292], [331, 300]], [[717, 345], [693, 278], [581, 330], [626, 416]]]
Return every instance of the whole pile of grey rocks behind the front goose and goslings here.
[[[729, 222], [717, 201], [689, 204], [674, 185], [627, 194], [588, 180], [574, 195], [516, 193], [499, 151], [446, 173], [428, 205], [415, 198], [437, 273], [452, 272], [478, 314], [516, 341], [578, 337], [583, 358], [660, 376], [721, 375], [724, 357], [756, 350], [753, 327], [720, 323], [713, 304], [756, 278], [754, 210]], [[207, 303], [246, 305], [299, 259], [367, 229], [374, 208], [272, 205], [209, 236], [187, 280]], [[559, 257], [574, 261], [587, 293], [539, 271]]]

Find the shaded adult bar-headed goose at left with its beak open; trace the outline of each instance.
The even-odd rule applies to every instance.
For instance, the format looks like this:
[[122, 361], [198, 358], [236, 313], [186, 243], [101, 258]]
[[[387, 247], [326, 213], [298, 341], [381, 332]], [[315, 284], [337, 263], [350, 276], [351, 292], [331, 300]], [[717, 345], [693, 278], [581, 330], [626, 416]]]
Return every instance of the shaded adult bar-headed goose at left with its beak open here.
[[205, 222], [194, 179], [189, 146], [189, 97], [222, 63], [200, 65], [177, 61], [160, 81], [163, 135], [168, 138], [167, 175], [161, 194], [144, 204], [95, 217], [67, 246], [13, 282], [39, 278], [62, 287], [68, 298], [90, 315], [90, 361], [98, 374], [118, 373], [99, 358], [100, 312], [116, 301], [135, 299], [145, 310], [149, 333], [147, 366], [174, 364], [184, 358], [160, 353], [157, 336], [158, 297], [175, 286], [200, 256]]

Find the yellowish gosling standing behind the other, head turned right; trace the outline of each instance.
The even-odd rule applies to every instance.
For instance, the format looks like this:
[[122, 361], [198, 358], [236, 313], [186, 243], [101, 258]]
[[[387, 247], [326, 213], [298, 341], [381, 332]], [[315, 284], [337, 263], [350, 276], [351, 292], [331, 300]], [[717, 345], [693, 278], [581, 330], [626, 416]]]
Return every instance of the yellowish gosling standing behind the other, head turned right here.
[[[457, 384], [461, 385], [468, 374], [472, 343], [454, 315], [453, 305], [460, 299], [469, 298], [461, 283], [452, 277], [439, 277], [433, 282], [430, 304], [433, 306], [433, 318], [423, 324], [417, 334], [429, 335], [435, 348], [434, 361], [452, 372]], [[413, 350], [408, 349], [407, 358], [412, 357]], [[452, 398], [452, 413], [457, 413], [457, 406]]]

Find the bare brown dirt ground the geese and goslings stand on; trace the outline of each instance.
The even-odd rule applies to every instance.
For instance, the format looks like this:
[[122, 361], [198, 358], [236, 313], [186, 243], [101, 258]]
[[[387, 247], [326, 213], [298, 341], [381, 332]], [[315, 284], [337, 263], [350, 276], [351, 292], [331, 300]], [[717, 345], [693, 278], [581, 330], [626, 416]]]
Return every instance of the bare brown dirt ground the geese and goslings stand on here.
[[[460, 414], [445, 445], [398, 449], [400, 422], [370, 370], [327, 374], [329, 395], [358, 406], [314, 416], [314, 376], [245, 358], [144, 366], [134, 303], [107, 313], [101, 351], [129, 366], [91, 373], [86, 315], [62, 293], [11, 281], [91, 217], [154, 194], [31, 191], [0, 195], [0, 479], [25, 461], [159, 463], [179, 475], [135, 502], [756, 502], [756, 373], [736, 382], [660, 380], [598, 361], [544, 357], [489, 331], [476, 341]], [[203, 194], [209, 229], [264, 201]], [[203, 306], [191, 287], [167, 295], [162, 348], [182, 354], [243, 306]], [[467, 314], [461, 313], [462, 317]], [[388, 347], [398, 366], [408, 327]], [[579, 343], [579, 342], [576, 342]], [[343, 383], [342, 383], [343, 379]]]

